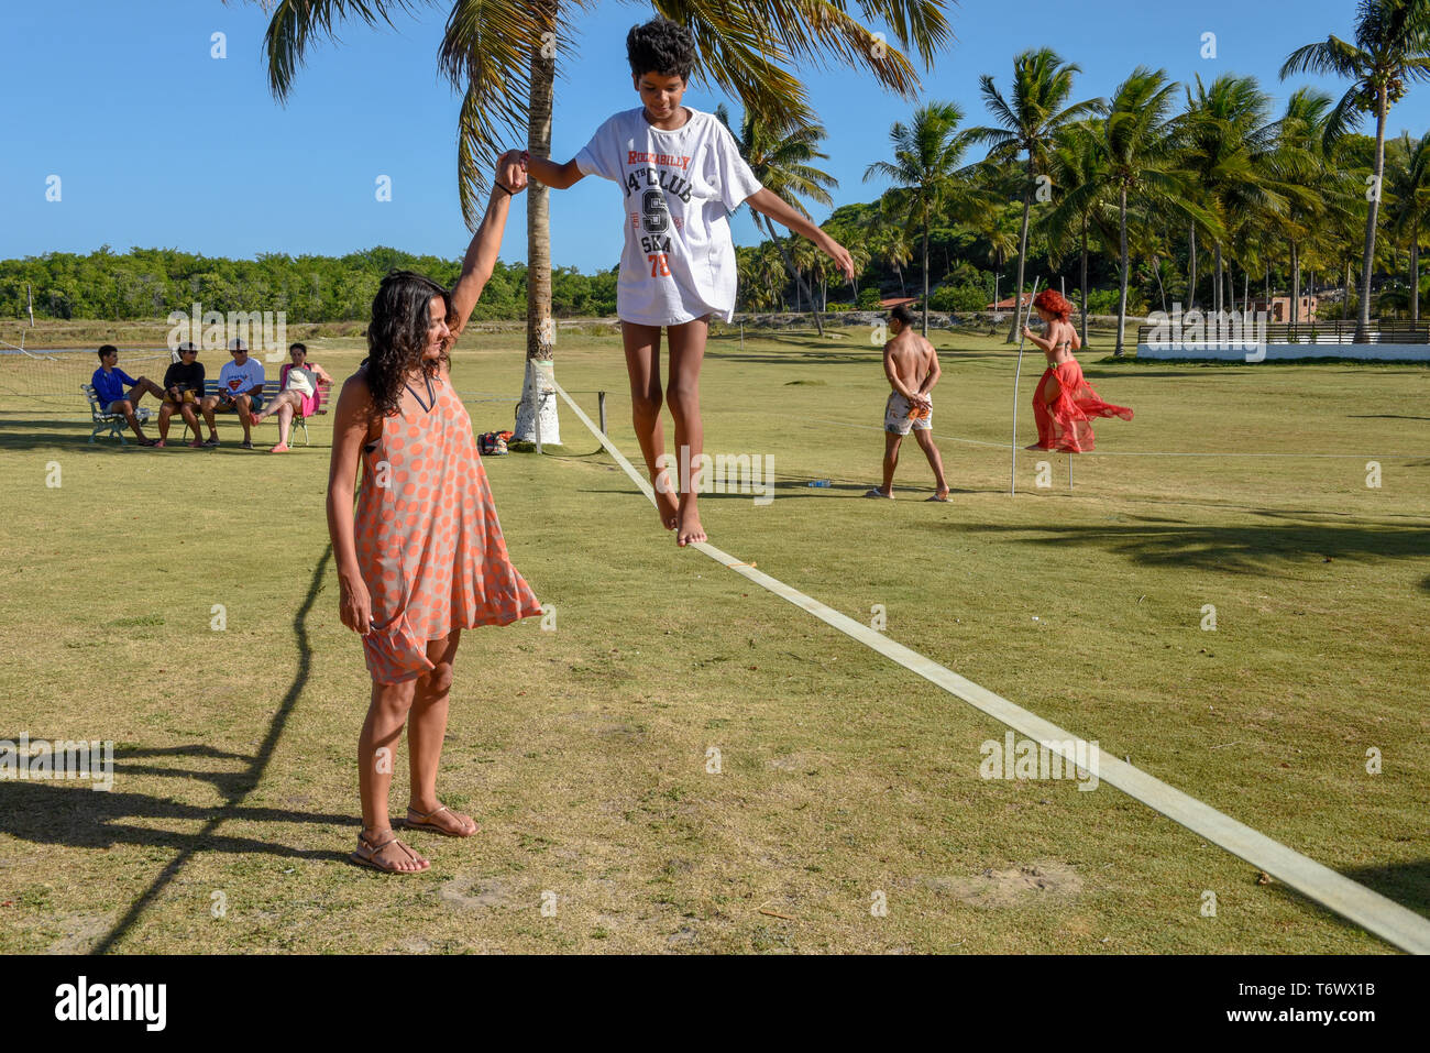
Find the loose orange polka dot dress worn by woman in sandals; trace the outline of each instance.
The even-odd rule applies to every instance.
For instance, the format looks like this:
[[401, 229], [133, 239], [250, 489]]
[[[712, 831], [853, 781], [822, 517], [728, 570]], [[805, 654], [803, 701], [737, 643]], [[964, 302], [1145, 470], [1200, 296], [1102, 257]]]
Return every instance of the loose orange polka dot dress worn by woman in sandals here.
[[353, 534], [372, 597], [363, 652], [379, 684], [430, 671], [426, 641], [453, 628], [541, 614], [506, 554], [472, 419], [446, 375], [432, 381], [430, 411], [399, 409], [363, 446]]

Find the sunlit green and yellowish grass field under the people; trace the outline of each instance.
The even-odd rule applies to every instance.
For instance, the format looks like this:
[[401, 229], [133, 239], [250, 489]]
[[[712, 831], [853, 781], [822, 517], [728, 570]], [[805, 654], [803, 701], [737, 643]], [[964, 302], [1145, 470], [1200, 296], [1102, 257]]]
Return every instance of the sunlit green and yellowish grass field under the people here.
[[[335, 375], [360, 358], [309, 343]], [[469, 402], [475, 428], [509, 428], [522, 338], [463, 343], [458, 388], [511, 393]], [[884, 605], [891, 638], [1430, 916], [1430, 369], [1101, 341], [1088, 379], [1137, 418], [1098, 425], [1071, 492], [1065, 456], [1020, 452], [1010, 496], [1014, 355], [937, 343], [947, 505], [912, 444], [901, 499], [859, 496], [887, 393], [867, 333], [712, 342], [706, 449], [772, 455], [778, 491], [709, 495], [711, 541], [861, 621]], [[556, 376], [611, 391], [639, 459], [618, 342], [563, 335]], [[980, 778], [1000, 724], [678, 551], [565, 411], [546, 456], [486, 461], [555, 628], [463, 634], [439, 787], [482, 833], [413, 834], [418, 877], [353, 867], [369, 680], [327, 419], [289, 456], [237, 449], [232, 418], [217, 451], [90, 446], [86, 419], [0, 395], [0, 738], [116, 744], [107, 794], [0, 781], [0, 950], [1390, 950], [1105, 784]]]

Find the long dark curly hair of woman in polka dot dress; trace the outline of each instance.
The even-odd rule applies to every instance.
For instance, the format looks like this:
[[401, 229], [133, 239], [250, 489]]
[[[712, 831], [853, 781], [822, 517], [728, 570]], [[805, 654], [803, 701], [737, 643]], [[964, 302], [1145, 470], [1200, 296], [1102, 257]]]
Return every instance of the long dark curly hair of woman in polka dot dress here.
[[422, 369], [436, 376], [448, 362], [448, 348], [442, 345], [439, 359], [423, 359], [430, 325], [430, 303], [440, 296], [450, 315], [452, 293], [430, 278], [413, 270], [389, 270], [378, 295], [372, 298], [372, 322], [368, 323], [368, 358], [363, 365], [368, 391], [378, 413], [398, 412], [402, 388], [408, 378]]

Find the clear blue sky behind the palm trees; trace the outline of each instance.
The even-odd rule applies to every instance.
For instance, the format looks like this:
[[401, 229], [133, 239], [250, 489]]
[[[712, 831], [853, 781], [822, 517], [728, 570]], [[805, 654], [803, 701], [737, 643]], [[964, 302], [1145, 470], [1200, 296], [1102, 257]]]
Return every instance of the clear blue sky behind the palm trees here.
[[[260, 252], [337, 255], [373, 245], [460, 256], [469, 235], [456, 195], [458, 99], [439, 79], [436, 47], [449, 4], [396, 17], [396, 29], [356, 23], [342, 46], [319, 43], [287, 106], [269, 94], [260, 52], [266, 13], [219, 0], [47, 0], [6, 4], [0, 69], [0, 258], [110, 245], [179, 248], [250, 258]], [[585, 16], [579, 57], [556, 87], [555, 149], [565, 160], [596, 124], [638, 104], [625, 67], [625, 33], [648, 17], [642, 4], [602, 4]], [[1007, 87], [1012, 57], [1050, 46], [1077, 62], [1077, 97], [1108, 94], [1134, 66], [1177, 80], [1250, 73], [1277, 109], [1304, 79], [1277, 70], [1297, 46], [1348, 36], [1353, 0], [965, 0], [951, 7], [957, 40], [924, 77], [924, 97], [952, 100], [967, 123], [987, 122], [978, 76]], [[210, 57], [210, 34], [227, 36], [227, 59]], [[1201, 34], [1217, 34], [1203, 59]], [[882, 156], [888, 126], [911, 102], [848, 72], [802, 70], [829, 130], [827, 170], [835, 205], [871, 200], [865, 166]], [[1344, 84], [1321, 87], [1336, 97]], [[719, 97], [695, 84], [686, 102]], [[738, 114], [738, 104], [732, 109]], [[1390, 133], [1430, 126], [1430, 84], [1391, 112]], [[1373, 130], [1367, 124], [1363, 130]], [[513, 143], [519, 146], [521, 143]], [[61, 177], [63, 200], [44, 199]], [[393, 199], [375, 199], [379, 175]], [[553, 193], [552, 260], [583, 270], [619, 259], [615, 189], [596, 179]], [[827, 210], [817, 210], [822, 220]], [[744, 216], [741, 243], [758, 240]], [[525, 256], [525, 210], [512, 210], [502, 258]]]

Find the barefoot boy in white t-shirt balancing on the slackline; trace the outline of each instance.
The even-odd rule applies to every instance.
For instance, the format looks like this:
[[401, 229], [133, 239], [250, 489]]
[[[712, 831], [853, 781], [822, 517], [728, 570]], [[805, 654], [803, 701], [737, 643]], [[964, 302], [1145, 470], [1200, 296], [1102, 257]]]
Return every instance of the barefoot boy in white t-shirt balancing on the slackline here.
[[632, 418], [661, 525], [674, 529], [684, 547], [705, 541], [705, 529], [695, 504], [699, 479], [682, 478], [672, 485], [661, 462], [661, 328], [671, 339], [666, 398], [675, 418], [678, 464], [696, 465], [705, 438], [699, 375], [709, 319], [718, 315], [728, 322], [735, 309], [729, 213], [745, 203], [804, 235], [849, 280], [854, 260], [842, 245], [759, 185], [719, 119], [681, 106], [695, 66], [695, 41], [685, 27], [666, 19], [636, 26], [626, 36], [626, 56], [644, 104], [611, 117], [565, 165], [526, 153], [522, 160], [532, 176], [558, 190], [595, 175], [619, 183], [625, 193], [616, 313], [631, 375]]

